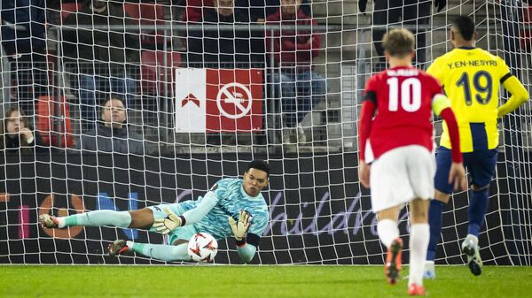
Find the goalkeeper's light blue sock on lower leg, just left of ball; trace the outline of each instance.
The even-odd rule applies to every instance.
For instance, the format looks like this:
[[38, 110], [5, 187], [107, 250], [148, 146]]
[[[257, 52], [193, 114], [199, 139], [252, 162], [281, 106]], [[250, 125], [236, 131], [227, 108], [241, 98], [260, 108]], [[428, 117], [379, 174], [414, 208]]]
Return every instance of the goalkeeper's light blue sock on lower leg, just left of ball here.
[[147, 244], [127, 242], [130, 250], [144, 256], [150, 256], [161, 261], [190, 261], [191, 257], [186, 252], [187, 243], [179, 245]]

